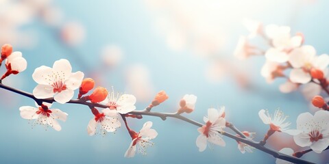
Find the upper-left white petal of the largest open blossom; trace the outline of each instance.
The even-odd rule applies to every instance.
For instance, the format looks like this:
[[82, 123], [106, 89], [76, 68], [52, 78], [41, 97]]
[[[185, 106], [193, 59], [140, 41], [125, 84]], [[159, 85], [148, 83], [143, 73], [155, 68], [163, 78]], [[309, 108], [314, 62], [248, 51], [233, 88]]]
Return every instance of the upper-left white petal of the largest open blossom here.
[[53, 74], [53, 68], [40, 66], [34, 70], [32, 78], [38, 84], [50, 85], [52, 79], [49, 79], [49, 77], [51, 74]]

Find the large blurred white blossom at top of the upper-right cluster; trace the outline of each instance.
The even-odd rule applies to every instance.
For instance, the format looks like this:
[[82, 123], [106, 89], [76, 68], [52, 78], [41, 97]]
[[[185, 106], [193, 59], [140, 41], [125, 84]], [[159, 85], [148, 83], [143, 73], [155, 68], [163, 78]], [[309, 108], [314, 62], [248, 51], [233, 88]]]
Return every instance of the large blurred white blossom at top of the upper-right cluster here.
[[290, 27], [287, 26], [267, 25], [265, 33], [271, 39], [273, 46], [265, 53], [267, 59], [279, 63], [286, 62], [289, 59], [290, 51], [301, 46], [302, 36], [291, 37], [290, 30]]

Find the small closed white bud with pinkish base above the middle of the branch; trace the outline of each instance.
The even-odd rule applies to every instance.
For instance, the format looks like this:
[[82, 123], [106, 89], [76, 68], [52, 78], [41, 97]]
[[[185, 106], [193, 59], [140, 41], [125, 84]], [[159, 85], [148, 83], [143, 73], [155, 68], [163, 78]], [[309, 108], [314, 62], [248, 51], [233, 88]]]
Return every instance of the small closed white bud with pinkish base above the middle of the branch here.
[[194, 111], [195, 102], [197, 102], [197, 96], [194, 94], [185, 94], [182, 100], [180, 100], [180, 109], [178, 109], [178, 113], [191, 113]]

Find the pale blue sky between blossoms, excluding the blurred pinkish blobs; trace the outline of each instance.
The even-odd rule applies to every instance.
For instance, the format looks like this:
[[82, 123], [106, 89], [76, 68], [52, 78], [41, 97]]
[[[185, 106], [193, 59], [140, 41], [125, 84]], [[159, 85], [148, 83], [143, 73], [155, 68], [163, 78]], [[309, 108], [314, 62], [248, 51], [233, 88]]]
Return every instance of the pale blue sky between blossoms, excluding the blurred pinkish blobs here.
[[[202, 122], [209, 107], [224, 105], [228, 120], [243, 131], [256, 132], [256, 140], [262, 139], [268, 128], [258, 118], [260, 109], [282, 109], [289, 115], [291, 126], [295, 127], [297, 115], [309, 111], [308, 102], [302, 94], [280, 93], [278, 85], [282, 80], [267, 84], [260, 76], [264, 57], [237, 61], [232, 57], [232, 52], [239, 36], [247, 35], [241, 20], [254, 18], [265, 25], [289, 25], [293, 33], [302, 31], [306, 38], [305, 44], [315, 46], [318, 54], [328, 53], [328, 1], [235, 0], [221, 3], [225, 8], [219, 7], [219, 17], [214, 20], [209, 18], [214, 22], [218, 20], [221, 30], [226, 34], [223, 46], [216, 56], [233, 61], [240, 69], [245, 70], [254, 86], [252, 89], [243, 90], [234, 79], [228, 77], [224, 77], [219, 83], [210, 83], [206, 79], [205, 69], [212, 59], [195, 55], [189, 48], [180, 51], [170, 49], [164, 36], [158, 35], [154, 30], [158, 12], [149, 10], [142, 0], [54, 1], [53, 5], [64, 12], [65, 21], [75, 20], [84, 25], [86, 39], [82, 44], [69, 48], [74, 49], [77, 54], [68, 51], [58, 40], [58, 31], [36, 18], [20, 29], [34, 31], [36, 45], [28, 48], [14, 47], [16, 51], [22, 51], [27, 59], [27, 70], [8, 77], [3, 83], [32, 92], [36, 86], [32, 79], [34, 69], [42, 65], [52, 66], [53, 61], [66, 58], [71, 61], [73, 71], [82, 70], [86, 75], [93, 76], [90, 68], [96, 69], [102, 76], [105, 87], [110, 88], [113, 85], [117, 91], [127, 93], [129, 91], [125, 91], [125, 71], [138, 64], [149, 70], [155, 91], [165, 90], [169, 94], [169, 100], [154, 111], [175, 111], [184, 94], [195, 94], [198, 96], [195, 111], [187, 116], [199, 122]], [[256, 6], [243, 9], [244, 3]], [[256, 40], [258, 42], [260, 40]], [[124, 52], [123, 60], [112, 70], [99, 69], [100, 49], [108, 44], [121, 47]], [[76, 57], [87, 61], [88, 66], [77, 63]], [[4, 72], [4, 68], [1, 71]], [[117, 133], [108, 133], [105, 137], [88, 136], [86, 126], [93, 117], [88, 107], [54, 104], [53, 107], [69, 113], [69, 117], [66, 122], [60, 122], [62, 131], [57, 132], [51, 128], [45, 131], [41, 126], [32, 129], [28, 121], [19, 115], [19, 107], [34, 106], [32, 100], [3, 90], [0, 95], [0, 163], [275, 163], [273, 157], [258, 150], [241, 154], [236, 141], [226, 137], [226, 147], [214, 146], [199, 152], [195, 145], [195, 139], [199, 135], [195, 126], [171, 118], [162, 121], [148, 116], [143, 120], [128, 121], [136, 131], [144, 122], [154, 122], [154, 128], [158, 131], [158, 137], [154, 139], [155, 145], [148, 149], [147, 156], [137, 154], [132, 159], [125, 159], [123, 155], [131, 141], [125, 128], [119, 128]], [[147, 105], [148, 102], [138, 102], [136, 107], [143, 109]], [[275, 138], [277, 140], [270, 139], [269, 143], [272, 144], [269, 147], [276, 148], [273, 145], [281, 141], [291, 141], [292, 137], [276, 134]], [[321, 156], [328, 156], [328, 152], [321, 155], [310, 152], [304, 159], [315, 163], [328, 162], [328, 158], [323, 159]]]

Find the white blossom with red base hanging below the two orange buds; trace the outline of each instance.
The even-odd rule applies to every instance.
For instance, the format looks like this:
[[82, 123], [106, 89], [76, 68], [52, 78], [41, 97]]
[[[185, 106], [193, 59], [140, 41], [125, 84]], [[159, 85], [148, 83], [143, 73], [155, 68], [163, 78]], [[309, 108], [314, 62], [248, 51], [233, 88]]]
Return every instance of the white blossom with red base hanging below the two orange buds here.
[[118, 115], [115, 113], [106, 113], [106, 109], [103, 109], [102, 113], [99, 113], [97, 109], [92, 109], [95, 118], [89, 121], [87, 126], [88, 135], [95, 135], [97, 133], [106, 135], [106, 132], [117, 131], [116, 128], [121, 126], [118, 120]]

